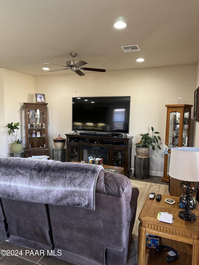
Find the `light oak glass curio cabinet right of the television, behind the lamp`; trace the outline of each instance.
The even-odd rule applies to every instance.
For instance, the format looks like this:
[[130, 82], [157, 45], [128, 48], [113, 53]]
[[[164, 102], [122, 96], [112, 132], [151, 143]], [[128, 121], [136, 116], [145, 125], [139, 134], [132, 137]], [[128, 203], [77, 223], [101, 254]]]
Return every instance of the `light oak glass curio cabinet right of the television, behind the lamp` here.
[[169, 182], [169, 162], [171, 148], [189, 146], [191, 108], [193, 105], [165, 105], [167, 107], [165, 144], [169, 147], [164, 155], [164, 176], [162, 181]]

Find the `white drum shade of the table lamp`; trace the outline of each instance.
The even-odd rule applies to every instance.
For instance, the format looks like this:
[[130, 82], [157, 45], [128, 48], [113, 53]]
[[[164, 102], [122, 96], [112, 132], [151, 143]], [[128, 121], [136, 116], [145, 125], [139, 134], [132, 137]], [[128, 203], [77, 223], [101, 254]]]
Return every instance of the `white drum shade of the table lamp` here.
[[199, 148], [171, 148], [169, 176], [183, 181], [199, 181]]

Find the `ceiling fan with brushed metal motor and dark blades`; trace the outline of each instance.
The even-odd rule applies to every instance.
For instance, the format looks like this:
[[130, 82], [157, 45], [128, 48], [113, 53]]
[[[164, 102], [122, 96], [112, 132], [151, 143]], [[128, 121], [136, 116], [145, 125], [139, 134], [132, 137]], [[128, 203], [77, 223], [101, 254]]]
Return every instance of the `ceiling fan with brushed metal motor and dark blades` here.
[[105, 72], [105, 69], [97, 69], [97, 68], [88, 68], [88, 67], [81, 67], [85, 64], [87, 64], [87, 62], [84, 61], [79, 61], [76, 62], [74, 60], [74, 58], [77, 56], [77, 53], [70, 53], [73, 60], [72, 61], [67, 61], [66, 65], [60, 65], [60, 64], [54, 64], [54, 63], [48, 63], [48, 62], [42, 62], [45, 64], [53, 64], [53, 65], [59, 65], [59, 66], [63, 66], [63, 67], [68, 67], [68, 68], [63, 68], [63, 69], [58, 69], [58, 70], [52, 70], [52, 71], [48, 71], [48, 72], [55, 72], [55, 71], [60, 71], [60, 70], [68, 70], [71, 69], [71, 71], [76, 72], [76, 74], [83, 76], [85, 75], [82, 71], [80, 70], [86, 70], [86, 71], [95, 71], [95, 72]]

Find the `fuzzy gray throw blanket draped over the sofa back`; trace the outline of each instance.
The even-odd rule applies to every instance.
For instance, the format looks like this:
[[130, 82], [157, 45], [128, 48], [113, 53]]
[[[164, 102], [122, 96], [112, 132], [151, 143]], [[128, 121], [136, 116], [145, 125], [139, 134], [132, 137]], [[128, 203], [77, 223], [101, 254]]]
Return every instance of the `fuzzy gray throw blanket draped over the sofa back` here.
[[95, 210], [101, 170], [92, 164], [0, 157], [0, 197]]

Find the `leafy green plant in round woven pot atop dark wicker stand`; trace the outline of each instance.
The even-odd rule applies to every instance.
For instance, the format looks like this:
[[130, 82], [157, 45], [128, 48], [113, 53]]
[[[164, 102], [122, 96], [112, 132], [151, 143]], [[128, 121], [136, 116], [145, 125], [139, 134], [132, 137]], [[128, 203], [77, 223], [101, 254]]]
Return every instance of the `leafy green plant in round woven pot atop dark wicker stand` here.
[[[141, 157], [148, 157], [150, 146], [153, 150], [155, 150], [155, 147], [161, 149], [160, 145], [158, 145], [159, 140], [161, 141], [160, 136], [156, 136], [156, 134], [159, 134], [159, 132], [154, 132], [154, 128], [151, 126], [152, 133], [151, 135], [149, 133], [141, 134], [141, 140], [136, 143], [136, 153], [138, 156]], [[146, 148], [146, 149], [144, 149]]]

